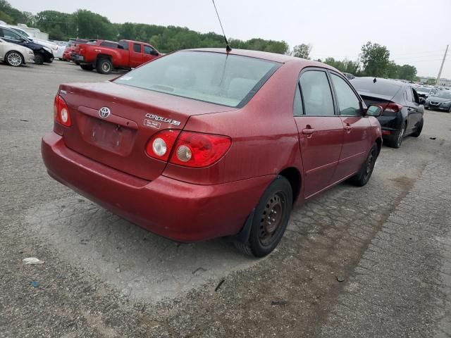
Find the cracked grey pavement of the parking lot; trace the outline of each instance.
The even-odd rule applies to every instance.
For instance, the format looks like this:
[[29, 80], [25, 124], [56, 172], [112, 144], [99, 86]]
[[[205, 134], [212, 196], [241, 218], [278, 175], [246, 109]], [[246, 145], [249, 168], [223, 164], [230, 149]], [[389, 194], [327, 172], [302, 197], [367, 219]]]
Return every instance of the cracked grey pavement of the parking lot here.
[[114, 76], [0, 64], [0, 337], [451, 337], [451, 114], [384, 146], [366, 187], [297, 207], [255, 260], [157, 237], [47, 175], [58, 85]]

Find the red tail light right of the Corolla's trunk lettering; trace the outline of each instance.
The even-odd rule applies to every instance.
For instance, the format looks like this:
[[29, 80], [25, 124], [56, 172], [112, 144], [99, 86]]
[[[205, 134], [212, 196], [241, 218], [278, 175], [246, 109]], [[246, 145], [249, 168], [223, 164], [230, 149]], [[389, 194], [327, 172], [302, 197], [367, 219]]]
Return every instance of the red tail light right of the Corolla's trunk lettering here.
[[181, 132], [170, 163], [191, 168], [208, 167], [223, 157], [231, 144], [227, 136]]

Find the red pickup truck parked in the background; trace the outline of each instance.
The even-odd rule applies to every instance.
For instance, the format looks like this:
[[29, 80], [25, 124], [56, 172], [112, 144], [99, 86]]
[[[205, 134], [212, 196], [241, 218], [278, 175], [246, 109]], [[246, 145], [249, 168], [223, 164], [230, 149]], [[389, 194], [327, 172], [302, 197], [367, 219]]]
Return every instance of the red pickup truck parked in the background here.
[[131, 40], [120, 40], [110, 46], [82, 44], [79, 53], [77, 61], [82, 69], [96, 68], [101, 74], [109, 74], [113, 68], [135, 68], [161, 56], [151, 44]]

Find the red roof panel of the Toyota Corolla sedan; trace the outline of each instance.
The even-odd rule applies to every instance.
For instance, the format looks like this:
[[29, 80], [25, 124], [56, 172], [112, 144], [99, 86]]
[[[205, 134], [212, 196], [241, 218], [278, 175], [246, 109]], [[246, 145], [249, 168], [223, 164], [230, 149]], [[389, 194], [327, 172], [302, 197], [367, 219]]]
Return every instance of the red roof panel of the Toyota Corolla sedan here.
[[[225, 48], [197, 48], [197, 49], [185, 49], [185, 51], [208, 51], [211, 53], [227, 54], [227, 51]], [[297, 63], [303, 63], [304, 66], [322, 67], [322, 68], [328, 68], [331, 70], [338, 71], [335, 68], [331, 67], [330, 65], [326, 65], [325, 63], [306, 60], [304, 58], [296, 58], [295, 56], [290, 56], [290, 55], [285, 55], [285, 54], [270, 53], [268, 51], [252, 51], [249, 49], [232, 49], [232, 51], [228, 52], [228, 54], [239, 55], [239, 56], [249, 56], [251, 58], [262, 58], [264, 60], [274, 61], [274, 62], [278, 62], [278, 63], [297, 62]], [[338, 73], [340, 73], [340, 71], [338, 71]]]

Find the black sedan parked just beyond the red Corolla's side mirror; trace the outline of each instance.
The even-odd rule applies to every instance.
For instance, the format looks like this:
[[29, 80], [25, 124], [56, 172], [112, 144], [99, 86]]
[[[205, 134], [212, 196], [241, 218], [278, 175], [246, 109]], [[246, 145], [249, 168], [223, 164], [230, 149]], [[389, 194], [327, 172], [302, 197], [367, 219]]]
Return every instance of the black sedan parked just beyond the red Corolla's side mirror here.
[[366, 105], [382, 106], [378, 120], [388, 146], [399, 148], [407, 135], [419, 137], [424, 124], [424, 99], [411, 84], [375, 77], [356, 77], [351, 83]]

